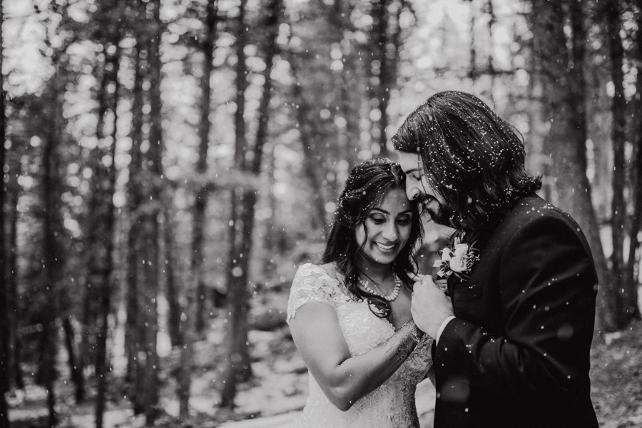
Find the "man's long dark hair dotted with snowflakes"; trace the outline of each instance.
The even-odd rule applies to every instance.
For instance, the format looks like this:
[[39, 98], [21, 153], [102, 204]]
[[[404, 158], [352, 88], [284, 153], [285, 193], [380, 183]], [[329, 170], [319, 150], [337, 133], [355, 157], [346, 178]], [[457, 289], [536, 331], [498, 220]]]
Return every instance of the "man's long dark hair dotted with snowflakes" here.
[[441, 197], [434, 220], [453, 228], [478, 230], [491, 215], [541, 188], [541, 176], [524, 169], [519, 131], [469, 93], [431, 96], [410, 113], [392, 143], [419, 154], [419, 172]]

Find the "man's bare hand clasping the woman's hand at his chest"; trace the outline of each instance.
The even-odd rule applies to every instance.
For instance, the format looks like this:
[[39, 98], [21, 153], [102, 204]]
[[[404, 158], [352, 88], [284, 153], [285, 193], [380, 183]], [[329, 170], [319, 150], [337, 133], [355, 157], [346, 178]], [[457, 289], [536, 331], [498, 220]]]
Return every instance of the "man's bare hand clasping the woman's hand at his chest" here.
[[424, 275], [421, 282], [414, 283], [411, 310], [412, 319], [419, 330], [433, 339], [437, 338], [442, 322], [454, 315], [450, 298], [439, 290], [430, 275]]

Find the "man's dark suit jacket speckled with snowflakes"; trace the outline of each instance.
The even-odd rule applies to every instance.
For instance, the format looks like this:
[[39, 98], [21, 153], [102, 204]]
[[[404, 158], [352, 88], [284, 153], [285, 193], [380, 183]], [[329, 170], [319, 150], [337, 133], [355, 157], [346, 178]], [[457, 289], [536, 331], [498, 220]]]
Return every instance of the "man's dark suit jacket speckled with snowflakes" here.
[[477, 238], [469, 280], [448, 280], [457, 318], [433, 350], [434, 427], [598, 427], [588, 379], [597, 277], [577, 223], [529, 195]]

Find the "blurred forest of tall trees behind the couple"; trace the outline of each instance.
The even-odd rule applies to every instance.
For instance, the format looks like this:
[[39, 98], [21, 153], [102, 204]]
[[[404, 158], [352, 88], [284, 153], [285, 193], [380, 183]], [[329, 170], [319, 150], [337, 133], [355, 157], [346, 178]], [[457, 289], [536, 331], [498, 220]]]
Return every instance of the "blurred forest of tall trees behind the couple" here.
[[[394, 158], [397, 126], [447, 89], [519, 129], [542, 197], [586, 233], [595, 357], [621, 337], [640, 354], [642, 0], [0, 8], [0, 428], [101, 428], [115, 405], [190, 426], [203, 379], [215, 413], [198, 425], [242, 419], [260, 364], [295, 355], [290, 282], [350, 168]], [[448, 230], [426, 228], [429, 255]], [[608, 367], [631, 372], [595, 369], [638, 385], [613, 427], [642, 425], [630, 356]], [[29, 391], [42, 412], [18, 417]], [[70, 422], [83, 403], [92, 417]]]

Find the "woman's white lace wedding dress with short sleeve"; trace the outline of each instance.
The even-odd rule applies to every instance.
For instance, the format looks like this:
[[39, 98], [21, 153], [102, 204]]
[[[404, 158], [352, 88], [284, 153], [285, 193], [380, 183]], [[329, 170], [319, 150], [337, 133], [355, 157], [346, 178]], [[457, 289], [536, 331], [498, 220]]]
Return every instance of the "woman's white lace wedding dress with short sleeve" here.
[[[357, 301], [347, 294], [339, 281], [323, 267], [306, 263], [299, 267], [292, 282], [287, 303], [287, 322], [309, 302], [332, 305], [353, 356], [365, 354], [394, 334], [390, 322], [374, 316], [365, 300]], [[410, 428], [419, 427], [414, 393], [432, 365], [432, 339], [424, 336], [397, 372], [380, 387], [357, 401], [347, 412], [337, 409], [325, 397], [310, 375], [310, 397], [307, 399], [299, 427], [305, 428]]]

